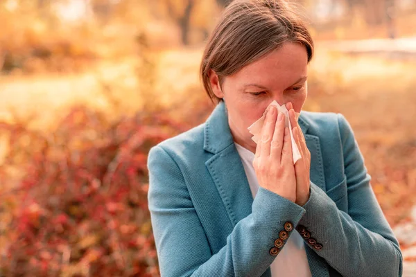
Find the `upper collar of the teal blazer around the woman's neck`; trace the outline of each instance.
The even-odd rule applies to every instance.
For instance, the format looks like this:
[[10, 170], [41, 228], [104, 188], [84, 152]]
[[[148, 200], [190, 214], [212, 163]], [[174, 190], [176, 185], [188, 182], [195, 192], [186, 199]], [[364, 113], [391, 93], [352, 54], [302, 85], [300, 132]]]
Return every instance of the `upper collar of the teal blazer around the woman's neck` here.
[[[306, 134], [309, 123], [304, 120], [302, 112], [298, 122], [300, 129]], [[231, 130], [229, 129], [227, 107], [225, 106], [225, 103], [221, 101], [215, 107], [214, 111], [212, 111], [205, 123], [204, 150], [217, 154], [232, 143], [234, 143], [234, 140], [232, 138]]]

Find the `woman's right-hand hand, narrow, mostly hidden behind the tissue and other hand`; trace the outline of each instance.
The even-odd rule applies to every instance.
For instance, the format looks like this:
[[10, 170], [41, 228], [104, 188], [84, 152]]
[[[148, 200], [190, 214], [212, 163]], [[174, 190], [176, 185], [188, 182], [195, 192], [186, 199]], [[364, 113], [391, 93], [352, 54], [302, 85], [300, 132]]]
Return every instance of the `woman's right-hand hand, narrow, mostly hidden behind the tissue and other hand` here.
[[311, 169], [311, 152], [306, 147], [306, 141], [299, 123], [297, 123], [295, 110], [291, 102], [286, 104], [289, 111], [289, 120], [291, 120], [293, 139], [295, 139], [299, 149], [301, 159], [295, 163], [296, 175], [296, 204], [303, 206], [309, 200], [309, 188], [311, 186], [310, 169]]

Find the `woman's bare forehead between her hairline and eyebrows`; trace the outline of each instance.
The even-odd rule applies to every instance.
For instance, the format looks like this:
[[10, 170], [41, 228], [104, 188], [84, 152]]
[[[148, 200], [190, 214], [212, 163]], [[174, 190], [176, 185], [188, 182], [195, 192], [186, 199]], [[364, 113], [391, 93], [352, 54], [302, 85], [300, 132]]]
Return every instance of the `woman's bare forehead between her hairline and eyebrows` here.
[[307, 75], [308, 54], [297, 43], [285, 43], [261, 59], [248, 64], [229, 76], [236, 85], [249, 83], [278, 89], [290, 86], [301, 76]]

